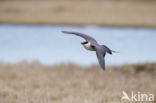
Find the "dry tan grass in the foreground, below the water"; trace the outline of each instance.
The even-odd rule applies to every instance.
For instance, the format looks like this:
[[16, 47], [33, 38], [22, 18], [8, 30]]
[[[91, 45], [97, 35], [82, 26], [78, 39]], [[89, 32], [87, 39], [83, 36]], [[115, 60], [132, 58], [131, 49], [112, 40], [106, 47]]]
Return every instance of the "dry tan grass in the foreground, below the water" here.
[[120, 100], [123, 90], [156, 96], [156, 64], [103, 71], [99, 66], [0, 63], [0, 103], [129, 103]]

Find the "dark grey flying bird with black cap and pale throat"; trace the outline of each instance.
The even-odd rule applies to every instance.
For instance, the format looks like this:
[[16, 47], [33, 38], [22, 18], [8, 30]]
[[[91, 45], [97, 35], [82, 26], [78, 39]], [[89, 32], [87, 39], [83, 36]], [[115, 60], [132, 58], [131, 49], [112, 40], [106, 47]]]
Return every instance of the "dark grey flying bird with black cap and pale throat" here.
[[116, 52], [116, 51], [109, 49], [106, 45], [99, 45], [94, 38], [92, 38], [91, 36], [88, 36], [86, 34], [78, 33], [78, 32], [70, 32], [70, 31], [62, 31], [62, 33], [74, 34], [76, 36], [80, 36], [80, 37], [84, 38], [86, 41], [81, 42], [81, 44], [87, 50], [96, 51], [96, 55], [97, 55], [99, 64], [103, 70], [105, 70], [104, 58], [105, 58], [106, 53], [112, 54], [112, 52]]

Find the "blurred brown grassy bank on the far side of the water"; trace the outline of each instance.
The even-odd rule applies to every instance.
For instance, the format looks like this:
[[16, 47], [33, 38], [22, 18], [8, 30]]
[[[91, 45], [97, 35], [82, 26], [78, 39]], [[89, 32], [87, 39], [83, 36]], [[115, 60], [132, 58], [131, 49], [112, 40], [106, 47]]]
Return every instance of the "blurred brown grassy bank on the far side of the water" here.
[[0, 23], [156, 27], [156, 0], [0, 0]]

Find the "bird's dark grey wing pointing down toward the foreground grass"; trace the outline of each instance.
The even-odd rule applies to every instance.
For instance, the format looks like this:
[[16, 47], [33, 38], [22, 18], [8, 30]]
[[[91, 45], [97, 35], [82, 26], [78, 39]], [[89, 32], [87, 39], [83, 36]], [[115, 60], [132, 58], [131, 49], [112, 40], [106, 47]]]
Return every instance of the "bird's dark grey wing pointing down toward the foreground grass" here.
[[96, 48], [96, 55], [99, 61], [100, 66], [102, 67], [103, 70], [105, 70], [105, 60], [104, 57], [106, 53], [98, 48]]

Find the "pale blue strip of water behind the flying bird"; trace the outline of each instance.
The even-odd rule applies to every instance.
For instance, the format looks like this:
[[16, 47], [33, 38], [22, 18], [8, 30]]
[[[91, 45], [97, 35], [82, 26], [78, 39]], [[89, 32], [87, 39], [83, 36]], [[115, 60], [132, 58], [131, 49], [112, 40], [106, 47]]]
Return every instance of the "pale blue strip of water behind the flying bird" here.
[[79, 31], [94, 37], [120, 53], [106, 55], [107, 65], [156, 62], [156, 29], [97, 26], [0, 25], [0, 61], [18, 63], [39, 61], [45, 65], [97, 64], [95, 52], [86, 51], [74, 35], [61, 30]]

